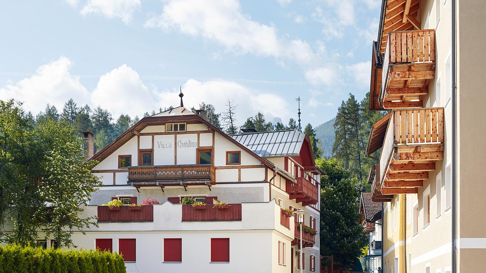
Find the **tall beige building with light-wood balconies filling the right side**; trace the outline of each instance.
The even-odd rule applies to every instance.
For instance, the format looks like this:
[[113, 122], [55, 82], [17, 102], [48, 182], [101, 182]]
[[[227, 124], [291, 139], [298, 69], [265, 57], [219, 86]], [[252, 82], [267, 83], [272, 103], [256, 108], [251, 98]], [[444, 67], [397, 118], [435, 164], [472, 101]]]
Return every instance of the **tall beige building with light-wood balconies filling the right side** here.
[[[367, 155], [384, 203], [383, 273], [485, 272], [485, 1], [383, 0]], [[461, 43], [462, 41], [462, 43]], [[462, 61], [462, 62], [461, 62]], [[462, 92], [461, 92], [462, 87]], [[478, 198], [479, 197], [479, 198]]]

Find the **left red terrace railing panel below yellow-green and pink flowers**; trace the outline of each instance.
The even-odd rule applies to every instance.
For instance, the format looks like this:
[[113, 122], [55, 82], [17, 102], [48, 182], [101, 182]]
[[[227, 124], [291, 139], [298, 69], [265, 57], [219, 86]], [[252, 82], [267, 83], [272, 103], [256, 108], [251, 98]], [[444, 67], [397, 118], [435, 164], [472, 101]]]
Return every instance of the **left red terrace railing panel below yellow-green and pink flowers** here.
[[109, 206], [98, 206], [98, 222], [154, 222], [154, 206], [144, 205], [140, 209], [130, 209], [124, 205], [120, 210], [111, 210]]

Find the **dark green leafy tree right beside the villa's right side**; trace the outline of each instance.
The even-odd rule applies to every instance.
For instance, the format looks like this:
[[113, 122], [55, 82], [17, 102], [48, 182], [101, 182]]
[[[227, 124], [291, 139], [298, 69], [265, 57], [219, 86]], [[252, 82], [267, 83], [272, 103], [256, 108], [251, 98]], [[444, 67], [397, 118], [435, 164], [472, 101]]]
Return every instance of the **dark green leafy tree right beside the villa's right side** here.
[[367, 244], [359, 224], [360, 193], [336, 158], [317, 159], [316, 165], [327, 174], [321, 176], [321, 255], [334, 255], [336, 265], [353, 268], [354, 259]]

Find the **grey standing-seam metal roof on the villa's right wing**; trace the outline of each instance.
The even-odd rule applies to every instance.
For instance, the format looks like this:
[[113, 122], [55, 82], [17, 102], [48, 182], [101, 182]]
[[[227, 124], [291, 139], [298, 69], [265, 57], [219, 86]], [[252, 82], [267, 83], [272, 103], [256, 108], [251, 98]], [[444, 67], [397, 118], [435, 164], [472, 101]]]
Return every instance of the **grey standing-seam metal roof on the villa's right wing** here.
[[296, 130], [246, 133], [231, 136], [262, 157], [298, 155], [305, 134]]

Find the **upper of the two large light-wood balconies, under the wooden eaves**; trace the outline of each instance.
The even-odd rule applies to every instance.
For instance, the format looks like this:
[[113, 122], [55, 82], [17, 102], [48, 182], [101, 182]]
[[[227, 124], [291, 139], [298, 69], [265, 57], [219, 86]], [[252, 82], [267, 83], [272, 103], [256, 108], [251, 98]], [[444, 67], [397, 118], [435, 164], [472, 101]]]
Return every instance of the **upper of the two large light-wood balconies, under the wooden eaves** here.
[[380, 104], [385, 109], [422, 107], [435, 78], [435, 31], [388, 32]]

